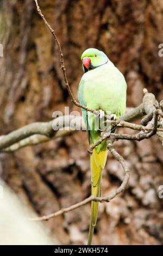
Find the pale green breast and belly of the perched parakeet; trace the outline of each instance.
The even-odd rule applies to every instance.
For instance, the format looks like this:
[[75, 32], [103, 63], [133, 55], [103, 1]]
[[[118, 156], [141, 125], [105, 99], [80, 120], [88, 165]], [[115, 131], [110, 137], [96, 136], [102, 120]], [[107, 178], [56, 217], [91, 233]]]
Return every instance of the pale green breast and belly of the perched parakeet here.
[[[116, 114], [117, 118], [126, 111], [127, 84], [122, 73], [112, 63], [99, 66], [86, 72], [79, 84], [79, 102], [92, 109], [103, 109], [110, 114]], [[92, 124], [92, 114], [82, 109], [83, 118], [88, 127]], [[90, 132], [88, 132], [90, 141]], [[96, 142], [100, 132], [92, 131], [93, 137], [90, 143]], [[92, 141], [93, 140], [93, 141]]]

